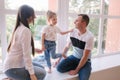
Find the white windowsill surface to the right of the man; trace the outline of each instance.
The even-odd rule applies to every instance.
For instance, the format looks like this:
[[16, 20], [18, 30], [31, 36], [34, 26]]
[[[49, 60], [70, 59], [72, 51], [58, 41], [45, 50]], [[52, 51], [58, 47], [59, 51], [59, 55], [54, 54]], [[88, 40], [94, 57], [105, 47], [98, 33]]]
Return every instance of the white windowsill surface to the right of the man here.
[[92, 72], [120, 66], [120, 53], [92, 58]]

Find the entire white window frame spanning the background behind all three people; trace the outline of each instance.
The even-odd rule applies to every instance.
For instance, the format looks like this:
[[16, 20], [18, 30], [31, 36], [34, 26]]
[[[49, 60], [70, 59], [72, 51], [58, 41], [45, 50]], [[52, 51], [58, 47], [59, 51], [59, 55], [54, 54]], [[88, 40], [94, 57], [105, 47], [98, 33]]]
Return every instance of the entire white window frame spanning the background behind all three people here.
[[[69, 0], [58, 0], [58, 25], [62, 30], [68, 29], [68, 17], [72, 15], [72, 17], [76, 17], [76, 13], [72, 14], [69, 13]], [[100, 18], [99, 24], [99, 32], [98, 32], [98, 47], [97, 47], [97, 56], [103, 55], [102, 51], [102, 39], [103, 39], [103, 22], [105, 19], [120, 19], [120, 16], [111, 16], [111, 15], [104, 15], [104, 0], [101, 0], [101, 8], [99, 15], [91, 15], [88, 14], [90, 17]], [[6, 36], [6, 20], [5, 16], [7, 14], [15, 15], [17, 10], [10, 10], [5, 9], [5, 0], [0, 0], [0, 39], [1, 39], [1, 47], [2, 47], [2, 60], [4, 60], [7, 54], [7, 36]], [[36, 11], [36, 15], [44, 15], [45, 12]], [[58, 36], [58, 45], [57, 49], [58, 52], [62, 52], [63, 46], [66, 44], [66, 36]]]

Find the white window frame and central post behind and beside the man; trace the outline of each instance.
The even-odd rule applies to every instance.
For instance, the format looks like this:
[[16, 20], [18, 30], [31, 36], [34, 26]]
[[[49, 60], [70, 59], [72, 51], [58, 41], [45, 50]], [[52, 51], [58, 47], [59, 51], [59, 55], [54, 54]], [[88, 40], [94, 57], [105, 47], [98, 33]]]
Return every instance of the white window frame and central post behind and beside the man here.
[[[104, 54], [103, 50], [102, 50], [102, 40], [103, 40], [103, 23], [105, 19], [120, 19], [120, 16], [112, 16], [112, 15], [105, 15], [104, 14], [104, 0], [101, 0], [100, 2], [100, 14], [99, 15], [91, 15], [88, 14], [88, 16], [90, 16], [90, 18], [99, 18], [99, 31], [98, 31], [98, 46], [97, 46], [97, 55], [96, 56], [103, 56], [106, 55]], [[63, 25], [64, 22], [67, 24], [64, 24], [64, 26], [68, 26], [68, 17], [72, 16], [73, 18], [76, 18], [76, 13], [69, 13], [69, 0], [58, 0], [58, 19], [60, 19], [58, 21], [59, 25]], [[61, 17], [62, 16], [62, 17]], [[64, 17], [63, 17], [64, 16]], [[63, 28], [63, 27], [62, 27]], [[66, 28], [68, 29], [68, 28]], [[60, 49], [63, 49], [63, 45], [65, 45], [64, 43], [66, 43], [66, 37], [62, 37], [62, 40], [64, 40], [64, 42], [61, 40], [61, 37], [59, 37], [59, 47], [61, 47]], [[112, 54], [112, 53], [111, 53]]]

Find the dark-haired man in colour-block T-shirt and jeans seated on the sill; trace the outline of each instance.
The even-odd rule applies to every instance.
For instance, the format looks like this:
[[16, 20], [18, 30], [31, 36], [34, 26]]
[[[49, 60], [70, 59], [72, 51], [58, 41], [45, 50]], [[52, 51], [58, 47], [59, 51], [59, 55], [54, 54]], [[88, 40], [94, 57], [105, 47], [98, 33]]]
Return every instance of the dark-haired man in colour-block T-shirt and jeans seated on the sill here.
[[[79, 74], [79, 80], [89, 80], [91, 74], [91, 50], [94, 36], [87, 30], [89, 17], [79, 14], [75, 20], [75, 29], [70, 34], [70, 40], [63, 50], [63, 59], [57, 66], [59, 72], [68, 72], [70, 75]], [[65, 54], [72, 44], [73, 54], [67, 57]]]

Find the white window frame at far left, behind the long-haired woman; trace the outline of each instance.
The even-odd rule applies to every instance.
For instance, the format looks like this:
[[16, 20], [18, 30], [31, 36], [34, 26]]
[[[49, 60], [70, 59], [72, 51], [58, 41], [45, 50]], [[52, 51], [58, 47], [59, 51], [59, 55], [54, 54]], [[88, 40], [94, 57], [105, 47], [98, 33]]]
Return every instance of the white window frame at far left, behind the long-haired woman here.
[[[45, 11], [35, 11], [36, 15], [45, 15]], [[16, 15], [17, 10], [5, 9], [5, 0], [0, 0], [0, 41], [2, 48], [2, 62], [7, 54], [6, 15]]]

